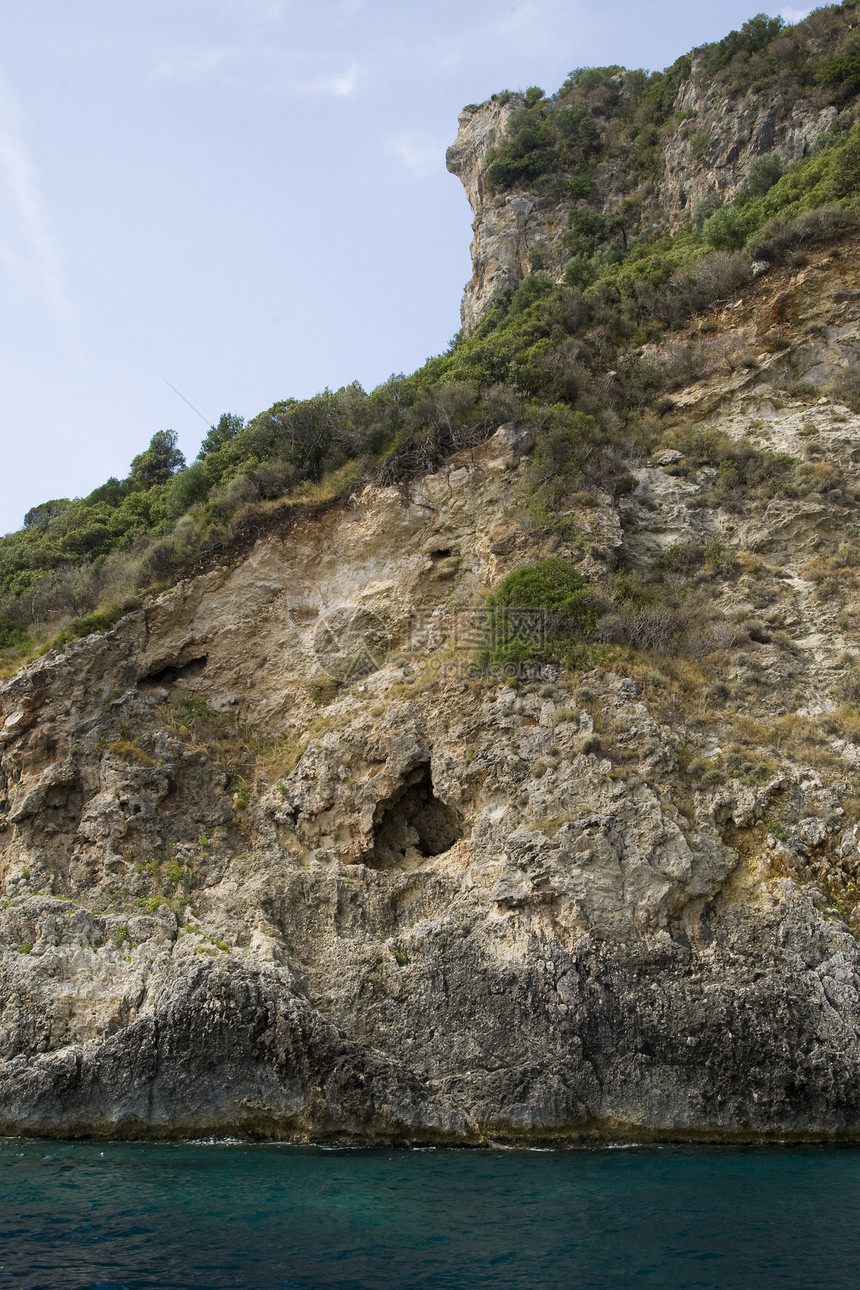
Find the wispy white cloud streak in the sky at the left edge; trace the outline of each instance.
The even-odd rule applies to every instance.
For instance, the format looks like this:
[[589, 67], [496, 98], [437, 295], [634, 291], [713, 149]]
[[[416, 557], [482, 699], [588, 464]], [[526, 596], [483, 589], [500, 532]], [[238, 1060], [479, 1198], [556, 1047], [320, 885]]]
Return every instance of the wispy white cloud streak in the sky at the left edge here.
[[72, 322], [62, 257], [41, 196], [39, 172], [24, 144], [18, 108], [0, 83], [0, 258], [24, 284], [35, 281], [57, 321]]

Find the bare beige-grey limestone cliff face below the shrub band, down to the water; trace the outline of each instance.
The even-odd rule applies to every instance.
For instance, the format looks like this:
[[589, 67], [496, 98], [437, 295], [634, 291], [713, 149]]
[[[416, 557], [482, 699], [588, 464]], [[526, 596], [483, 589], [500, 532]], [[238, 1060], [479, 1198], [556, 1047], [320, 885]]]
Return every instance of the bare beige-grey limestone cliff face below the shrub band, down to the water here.
[[[817, 494], [701, 506], [713, 472], [664, 446], [560, 544], [505, 426], [0, 688], [0, 1131], [860, 1133], [860, 751], [832, 717], [860, 418], [819, 392], [860, 348], [856, 262], [774, 271], [668, 342], [704, 348], [667, 440], [806, 457]], [[685, 542], [739, 561], [725, 694], [471, 670], [514, 566]], [[756, 740], [771, 769], [732, 773]]]

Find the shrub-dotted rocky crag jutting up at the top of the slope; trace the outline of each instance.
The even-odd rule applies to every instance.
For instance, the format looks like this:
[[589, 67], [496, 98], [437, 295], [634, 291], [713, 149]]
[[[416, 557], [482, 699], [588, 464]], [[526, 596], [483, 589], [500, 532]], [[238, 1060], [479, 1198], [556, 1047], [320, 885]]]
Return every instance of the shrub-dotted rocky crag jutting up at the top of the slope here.
[[[601, 214], [609, 221], [607, 232], [625, 245], [627, 231], [676, 232], [708, 204], [714, 210], [744, 195], [758, 160], [770, 159], [776, 174], [808, 157], [832, 132], [847, 130], [860, 116], [859, 83], [852, 80], [841, 92], [825, 86], [828, 75], [841, 75], [847, 61], [828, 54], [845, 48], [856, 57], [854, 14], [851, 6], [820, 9], [797, 27], [775, 32], [753, 53], [752, 71], [747, 49], [731, 59], [731, 50], [716, 59], [721, 46], [694, 50], [665, 74], [668, 102], [661, 110], [649, 104], [646, 92], [638, 119], [630, 116], [630, 104], [642, 98], [643, 83], [637, 80], [642, 74], [620, 67], [601, 70], [602, 83], [587, 83], [584, 89], [576, 81], [583, 74], [571, 74], [553, 99], [539, 101], [530, 90], [467, 107], [447, 152], [447, 168], [463, 182], [474, 215], [473, 272], [462, 304], [464, 333], [471, 334], [533, 270], [562, 280], [571, 257], [565, 233], [578, 210]], [[594, 130], [591, 150], [566, 157], [563, 175], [572, 174], [572, 190], [540, 165], [547, 148], [540, 132], [547, 121], [570, 114], [571, 103], [574, 111], [588, 114]], [[511, 146], [512, 124], [526, 107], [533, 114], [544, 108], [544, 120], [523, 128], [514, 155], [523, 161], [531, 148], [536, 164], [522, 165], [518, 179], [494, 183], [489, 164]], [[621, 129], [632, 141], [619, 138]], [[576, 187], [576, 179], [584, 186]], [[619, 212], [623, 219], [614, 224]]]

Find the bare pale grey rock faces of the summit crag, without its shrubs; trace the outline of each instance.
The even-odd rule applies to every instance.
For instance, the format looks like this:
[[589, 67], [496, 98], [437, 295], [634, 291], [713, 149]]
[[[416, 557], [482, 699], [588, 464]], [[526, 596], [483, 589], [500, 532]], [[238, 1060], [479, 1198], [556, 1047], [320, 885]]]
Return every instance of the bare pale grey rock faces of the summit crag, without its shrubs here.
[[[542, 272], [553, 281], [561, 281], [569, 258], [561, 239], [575, 201], [558, 201], [529, 188], [493, 192], [485, 182], [487, 155], [504, 142], [511, 114], [522, 104], [521, 95], [512, 95], [465, 108], [447, 151], [447, 168], [463, 182], [474, 214], [472, 279], [460, 310], [467, 334], [500, 293], [518, 286], [535, 253]], [[817, 106], [812, 97], [763, 102], [756, 94], [728, 95], [705, 83], [695, 62], [674, 111], [676, 124], [661, 142], [661, 182], [642, 183], [632, 194], [643, 227], [652, 231], [677, 231], [699, 203], [714, 194], [725, 200], [735, 197], [758, 156], [776, 152], [784, 168], [801, 161], [837, 117], [836, 107]], [[846, 124], [854, 114], [846, 110]], [[612, 210], [624, 195], [624, 175], [607, 161], [598, 168], [597, 184], [603, 210]]]

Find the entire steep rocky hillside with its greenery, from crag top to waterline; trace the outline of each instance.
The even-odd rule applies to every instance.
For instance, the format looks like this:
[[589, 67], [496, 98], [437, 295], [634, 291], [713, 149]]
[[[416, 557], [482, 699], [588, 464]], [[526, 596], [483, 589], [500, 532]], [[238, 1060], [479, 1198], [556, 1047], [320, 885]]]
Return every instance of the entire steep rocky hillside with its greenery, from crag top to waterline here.
[[854, 21], [467, 108], [465, 338], [0, 542], [0, 1131], [860, 1134]]

